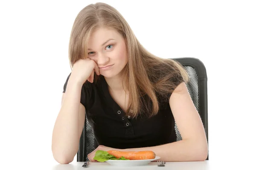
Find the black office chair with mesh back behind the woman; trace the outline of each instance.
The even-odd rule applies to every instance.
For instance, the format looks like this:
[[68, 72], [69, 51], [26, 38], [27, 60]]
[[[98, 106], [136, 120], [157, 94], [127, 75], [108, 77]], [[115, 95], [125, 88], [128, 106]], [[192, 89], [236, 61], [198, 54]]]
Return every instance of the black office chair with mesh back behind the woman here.
[[[186, 84], [189, 94], [194, 102], [195, 108], [201, 116], [204, 130], [208, 141], [208, 106], [207, 106], [207, 73], [204, 64], [196, 58], [172, 58], [183, 65], [189, 75], [189, 82]], [[179, 130], [175, 125], [177, 141], [182, 140]], [[98, 147], [92, 129], [86, 120], [81, 134], [77, 161], [89, 161], [87, 155]], [[209, 160], [209, 155], [207, 156]]]

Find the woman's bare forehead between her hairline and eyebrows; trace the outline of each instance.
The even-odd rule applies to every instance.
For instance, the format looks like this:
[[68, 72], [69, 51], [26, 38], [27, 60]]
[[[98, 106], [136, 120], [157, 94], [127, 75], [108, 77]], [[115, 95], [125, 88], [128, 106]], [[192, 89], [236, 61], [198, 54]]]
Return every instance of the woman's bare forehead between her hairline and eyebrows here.
[[112, 28], [96, 28], [88, 39], [88, 48], [97, 48], [109, 39], [121, 40], [122, 36]]

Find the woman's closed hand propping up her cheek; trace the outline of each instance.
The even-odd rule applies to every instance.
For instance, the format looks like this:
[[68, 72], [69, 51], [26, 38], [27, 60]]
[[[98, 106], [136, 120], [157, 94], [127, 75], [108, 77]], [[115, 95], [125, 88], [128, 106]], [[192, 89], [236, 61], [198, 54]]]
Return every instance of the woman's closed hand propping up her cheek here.
[[86, 80], [93, 83], [94, 72], [96, 72], [97, 75], [100, 75], [99, 67], [95, 61], [90, 58], [79, 59], [73, 65], [71, 77], [81, 84], [84, 84]]

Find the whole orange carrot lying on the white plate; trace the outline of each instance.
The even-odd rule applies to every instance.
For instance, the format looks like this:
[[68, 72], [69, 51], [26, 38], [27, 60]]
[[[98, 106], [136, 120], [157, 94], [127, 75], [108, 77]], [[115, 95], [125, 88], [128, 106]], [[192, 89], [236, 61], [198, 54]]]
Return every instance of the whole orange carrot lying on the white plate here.
[[154, 159], [156, 154], [151, 150], [145, 151], [118, 151], [118, 150], [109, 150], [109, 154], [115, 156], [116, 158], [121, 158], [122, 156], [125, 159], [130, 160], [143, 160], [143, 159]]

